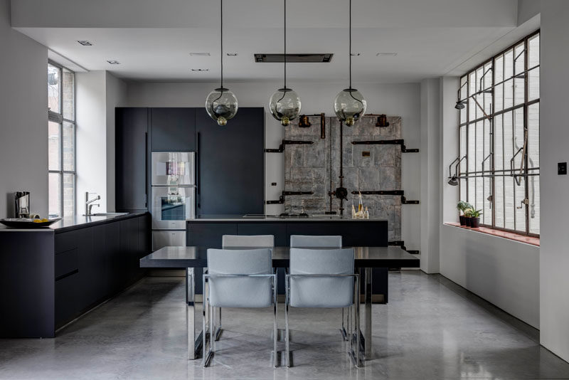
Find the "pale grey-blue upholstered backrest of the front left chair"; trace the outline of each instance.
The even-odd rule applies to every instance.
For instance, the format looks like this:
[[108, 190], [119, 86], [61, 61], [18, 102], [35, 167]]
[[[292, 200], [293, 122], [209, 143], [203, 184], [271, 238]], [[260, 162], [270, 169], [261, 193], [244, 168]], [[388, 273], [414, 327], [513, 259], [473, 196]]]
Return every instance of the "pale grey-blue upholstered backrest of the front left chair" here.
[[[270, 248], [208, 249], [210, 275], [272, 274]], [[209, 302], [213, 307], [268, 307], [272, 305], [270, 277], [209, 278]], [[276, 284], [275, 284], [276, 286]]]

